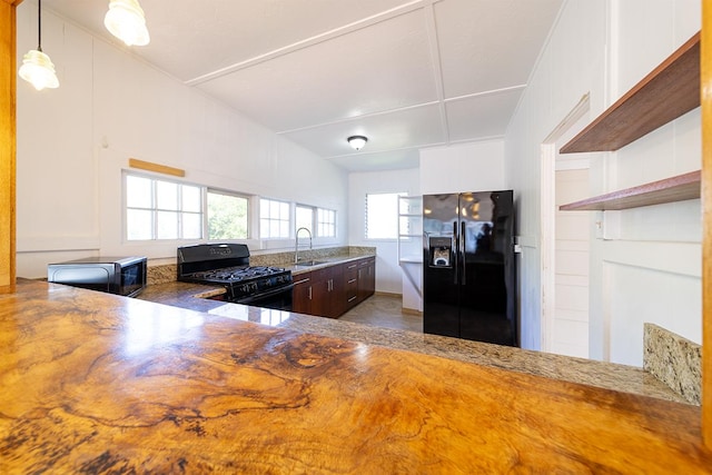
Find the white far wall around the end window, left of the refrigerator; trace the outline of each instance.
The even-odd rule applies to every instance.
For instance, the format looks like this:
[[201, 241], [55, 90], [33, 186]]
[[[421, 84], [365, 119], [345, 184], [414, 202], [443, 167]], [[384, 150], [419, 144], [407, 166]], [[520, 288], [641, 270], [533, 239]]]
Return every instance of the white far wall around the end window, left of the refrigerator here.
[[380, 192], [419, 195], [418, 169], [353, 172], [348, 176], [348, 244], [375, 246], [376, 291], [400, 294], [403, 274], [398, 266], [396, 239], [366, 239], [366, 195]]

